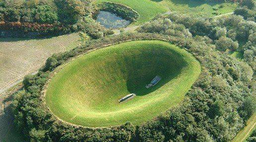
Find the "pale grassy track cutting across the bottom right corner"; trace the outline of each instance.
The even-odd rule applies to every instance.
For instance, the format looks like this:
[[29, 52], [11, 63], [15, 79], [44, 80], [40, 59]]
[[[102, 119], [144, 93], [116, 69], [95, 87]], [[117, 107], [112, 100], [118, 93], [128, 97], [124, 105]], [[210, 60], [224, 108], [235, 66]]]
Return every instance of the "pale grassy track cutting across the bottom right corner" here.
[[254, 129], [256, 129], [256, 113], [251, 116], [247, 121], [246, 126], [237, 134], [232, 142], [244, 142]]

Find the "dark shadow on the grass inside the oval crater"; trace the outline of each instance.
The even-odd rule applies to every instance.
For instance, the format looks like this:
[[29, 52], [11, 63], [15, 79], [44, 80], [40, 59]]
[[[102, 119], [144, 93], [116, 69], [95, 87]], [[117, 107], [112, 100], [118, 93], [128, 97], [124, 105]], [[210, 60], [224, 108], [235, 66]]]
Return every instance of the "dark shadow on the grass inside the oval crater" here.
[[[156, 91], [177, 77], [182, 69], [187, 66], [183, 57], [178, 53], [174, 52], [170, 55], [162, 49], [147, 50], [140, 52], [140, 55], [136, 55], [139, 58], [134, 56], [124, 57], [128, 71], [127, 88], [129, 93], [135, 93], [137, 96], [144, 96]], [[149, 84], [156, 75], [161, 76], [161, 81], [149, 89], [145, 88], [145, 85]]]

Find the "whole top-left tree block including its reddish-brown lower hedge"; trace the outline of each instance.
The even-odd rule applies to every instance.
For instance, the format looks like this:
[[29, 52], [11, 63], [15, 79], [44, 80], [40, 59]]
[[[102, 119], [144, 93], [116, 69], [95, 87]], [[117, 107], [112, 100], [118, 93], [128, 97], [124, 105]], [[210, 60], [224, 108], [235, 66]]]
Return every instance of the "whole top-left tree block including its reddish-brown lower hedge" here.
[[92, 19], [92, 8], [91, 0], [0, 0], [0, 36], [57, 36], [82, 31], [100, 38], [113, 34]]

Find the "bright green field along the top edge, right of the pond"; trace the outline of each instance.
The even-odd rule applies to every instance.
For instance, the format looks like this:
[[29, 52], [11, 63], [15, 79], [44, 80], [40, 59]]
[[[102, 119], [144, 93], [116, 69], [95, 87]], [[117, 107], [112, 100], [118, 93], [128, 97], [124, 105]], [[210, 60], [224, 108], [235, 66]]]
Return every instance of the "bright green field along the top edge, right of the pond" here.
[[[215, 16], [213, 12], [229, 13], [237, 7], [237, 4], [234, 3], [206, 2], [204, 0], [96, 0], [98, 3], [102, 1], [122, 3], [137, 11], [140, 18], [134, 25], [140, 25], [151, 20], [157, 14], [163, 14], [167, 11], [212, 17]], [[213, 8], [217, 8], [217, 10]]]

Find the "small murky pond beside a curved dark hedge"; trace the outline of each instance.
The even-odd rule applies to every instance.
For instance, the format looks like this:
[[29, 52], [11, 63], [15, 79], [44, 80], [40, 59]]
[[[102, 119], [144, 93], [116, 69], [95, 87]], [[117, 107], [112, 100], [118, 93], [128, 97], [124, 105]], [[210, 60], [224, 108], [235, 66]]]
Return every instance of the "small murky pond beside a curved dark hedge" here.
[[107, 29], [125, 28], [130, 24], [130, 21], [108, 11], [100, 11], [96, 21]]

